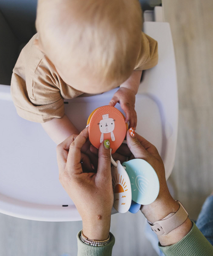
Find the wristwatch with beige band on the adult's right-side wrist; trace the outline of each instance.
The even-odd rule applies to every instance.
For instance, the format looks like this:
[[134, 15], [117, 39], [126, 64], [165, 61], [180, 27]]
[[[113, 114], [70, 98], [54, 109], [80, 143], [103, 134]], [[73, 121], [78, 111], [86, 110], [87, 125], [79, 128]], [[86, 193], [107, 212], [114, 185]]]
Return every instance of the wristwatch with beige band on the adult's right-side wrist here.
[[157, 220], [154, 223], [147, 221], [151, 226], [152, 231], [158, 236], [167, 235], [172, 230], [181, 226], [189, 217], [189, 214], [187, 213], [181, 202], [177, 200], [175, 201], [179, 204], [179, 209], [176, 213], [170, 213], [162, 220]]

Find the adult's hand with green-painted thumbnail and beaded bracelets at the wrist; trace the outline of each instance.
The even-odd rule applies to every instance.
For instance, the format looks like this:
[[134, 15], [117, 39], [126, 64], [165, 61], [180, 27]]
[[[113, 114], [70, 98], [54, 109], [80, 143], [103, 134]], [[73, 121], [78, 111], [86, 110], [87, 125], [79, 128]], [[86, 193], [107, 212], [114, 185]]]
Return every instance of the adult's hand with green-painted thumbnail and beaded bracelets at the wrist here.
[[83, 172], [81, 148], [87, 138], [88, 128], [57, 147], [59, 180], [81, 215], [84, 235], [103, 240], [109, 235], [113, 205], [110, 149], [101, 144], [97, 173]]

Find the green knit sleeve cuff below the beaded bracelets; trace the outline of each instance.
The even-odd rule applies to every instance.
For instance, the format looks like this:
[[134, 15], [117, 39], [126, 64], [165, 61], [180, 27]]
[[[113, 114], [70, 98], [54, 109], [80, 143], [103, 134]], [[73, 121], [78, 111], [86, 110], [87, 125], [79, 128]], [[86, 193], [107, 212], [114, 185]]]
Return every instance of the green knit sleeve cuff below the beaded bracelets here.
[[112, 233], [110, 233], [110, 242], [105, 246], [91, 246], [83, 243], [80, 239], [79, 231], [77, 235], [78, 241], [78, 256], [111, 256], [112, 255], [112, 247], [114, 245], [115, 239]]

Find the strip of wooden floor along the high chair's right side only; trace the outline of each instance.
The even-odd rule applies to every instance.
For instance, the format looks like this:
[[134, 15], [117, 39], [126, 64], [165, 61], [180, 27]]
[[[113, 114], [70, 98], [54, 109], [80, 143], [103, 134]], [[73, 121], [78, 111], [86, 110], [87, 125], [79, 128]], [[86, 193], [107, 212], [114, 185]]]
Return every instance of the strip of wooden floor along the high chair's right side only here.
[[177, 154], [171, 179], [195, 219], [213, 190], [213, 1], [164, 0], [176, 54]]

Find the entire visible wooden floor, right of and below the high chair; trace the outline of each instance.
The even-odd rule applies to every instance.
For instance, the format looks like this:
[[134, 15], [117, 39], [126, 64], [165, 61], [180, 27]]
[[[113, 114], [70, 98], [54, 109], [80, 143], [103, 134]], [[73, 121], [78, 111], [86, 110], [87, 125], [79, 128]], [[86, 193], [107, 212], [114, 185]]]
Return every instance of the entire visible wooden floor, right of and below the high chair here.
[[[171, 182], [196, 218], [213, 190], [213, 1], [164, 0], [165, 19], [174, 39], [179, 133]], [[142, 214], [112, 216], [113, 255], [157, 255], [143, 233]], [[1, 256], [77, 255], [81, 222], [37, 222], [0, 214]]]

